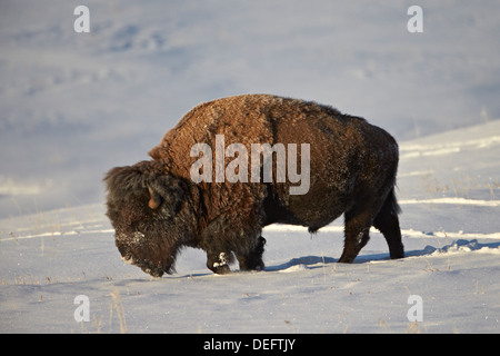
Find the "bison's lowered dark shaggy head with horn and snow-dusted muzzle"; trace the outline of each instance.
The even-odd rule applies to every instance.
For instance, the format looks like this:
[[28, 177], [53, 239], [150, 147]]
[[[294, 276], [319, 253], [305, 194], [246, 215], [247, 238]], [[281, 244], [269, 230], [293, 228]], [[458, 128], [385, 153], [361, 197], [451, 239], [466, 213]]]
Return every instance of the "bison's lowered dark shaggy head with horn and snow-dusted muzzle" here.
[[186, 216], [180, 216], [187, 205], [183, 181], [154, 161], [113, 168], [104, 181], [107, 215], [123, 260], [154, 277], [172, 273], [189, 233]]

